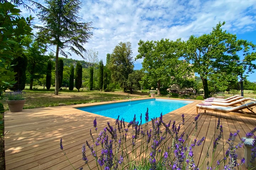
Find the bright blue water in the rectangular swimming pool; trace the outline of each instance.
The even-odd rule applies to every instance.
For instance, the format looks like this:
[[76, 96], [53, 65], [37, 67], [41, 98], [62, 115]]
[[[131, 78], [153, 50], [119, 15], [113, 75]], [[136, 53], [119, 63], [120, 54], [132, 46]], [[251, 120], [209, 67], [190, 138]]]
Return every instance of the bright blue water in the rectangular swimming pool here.
[[145, 123], [146, 109], [149, 109], [149, 121], [151, 118], [160, 117], [160, 114], [165, 115], [171, 111], [174, 111], [180, 107], [186, 106], [192, 103], [192, 101], [182, 100], [165, 100], [165, 99], [146, 99], [137, 101], [101, 104], [96, 106], [80, 107], [82, 111], [106, 116], [109, 118], [117, 119], [118, 115], [124, 118], [124, 121], [130, 122], [133, 120], [134, 114], [136, 114], [136, 120], [140, 121], [140, 114], [142, 113], [142, 124]]

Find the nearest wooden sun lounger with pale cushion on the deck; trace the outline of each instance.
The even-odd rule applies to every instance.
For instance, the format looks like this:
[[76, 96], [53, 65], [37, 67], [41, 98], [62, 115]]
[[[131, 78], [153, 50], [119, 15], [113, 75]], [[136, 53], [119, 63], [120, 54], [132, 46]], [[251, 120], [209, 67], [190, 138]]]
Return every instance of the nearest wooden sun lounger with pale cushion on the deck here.
[[[214, 112], [221, 112], [221, 113], [235, 112], [235, 113], [256, 115], [256, 113], [252, 110], [255, 106], [256, 106], [256, 102], [250, 102], [250, 103], [242, 104], [241, 106], [236, 106], [236, 107], [225, 107], [225, 106], [217, 106], [217, 105], [204, 106], [204, 105], [197, 104], [196, 108], [197, 108], [197, 114], [198, 114], [198, 109], [200, 109], [200, 110], [204, 110], [204, 113], [206, 113], [206, 111], [214, 111]], [[243, 109], [248, 109], [250, 112], [245, 112]]]

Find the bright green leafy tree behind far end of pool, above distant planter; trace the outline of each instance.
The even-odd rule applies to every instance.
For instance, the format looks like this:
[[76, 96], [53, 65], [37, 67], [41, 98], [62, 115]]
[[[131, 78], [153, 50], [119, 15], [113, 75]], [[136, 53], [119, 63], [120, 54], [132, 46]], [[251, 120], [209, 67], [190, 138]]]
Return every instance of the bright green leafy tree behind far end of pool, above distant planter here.
[[[142, 41], [140, 40], [138, 52], [135, 60], [143, 58], [142, 70], [145, 74], [143, 81], [149, 83], [152, 87], [160, 87], [165, 82], [176, 83], [188, 75], [188, 63], [178, 60], [183, 56], [184, 43], [178, 39], [170, 41], [161, 39], [160, 41]], [[158, 95], [160, 91], [158, 90]]]

